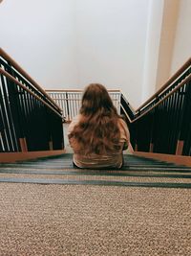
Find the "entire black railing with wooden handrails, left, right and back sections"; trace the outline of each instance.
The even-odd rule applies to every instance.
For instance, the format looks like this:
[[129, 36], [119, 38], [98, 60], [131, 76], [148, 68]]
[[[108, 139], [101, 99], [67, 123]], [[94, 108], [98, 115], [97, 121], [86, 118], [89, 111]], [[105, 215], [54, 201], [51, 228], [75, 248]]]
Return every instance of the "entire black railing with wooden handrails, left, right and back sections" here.
[[[191, 155], [191, 58], [137, 110], [109, 91], [136, 151]], [[63, 119], [78, 113], [82, 91], [45, 92], [0, 49], [0, 151], [60, 150]]]

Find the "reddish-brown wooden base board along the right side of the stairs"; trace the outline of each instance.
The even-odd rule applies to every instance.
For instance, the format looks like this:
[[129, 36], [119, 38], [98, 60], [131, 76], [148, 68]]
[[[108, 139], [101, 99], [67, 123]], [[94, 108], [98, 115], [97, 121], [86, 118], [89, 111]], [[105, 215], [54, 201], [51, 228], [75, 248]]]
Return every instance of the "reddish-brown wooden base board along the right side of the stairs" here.
[[191, 167], [191, 156], [145, 151], [135, 151], [134, 154], [142, 157], [165, 161], [168, 163], [174, 163], [178, 165]]

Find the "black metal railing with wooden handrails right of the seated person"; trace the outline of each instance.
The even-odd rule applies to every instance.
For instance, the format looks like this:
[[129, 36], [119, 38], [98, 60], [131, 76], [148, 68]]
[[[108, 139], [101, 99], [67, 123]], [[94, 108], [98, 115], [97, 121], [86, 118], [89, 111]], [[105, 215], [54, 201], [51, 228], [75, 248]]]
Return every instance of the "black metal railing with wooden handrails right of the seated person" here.
[[191, 155], [191, 58], [136, 111], [121, 105], [135, 150]]

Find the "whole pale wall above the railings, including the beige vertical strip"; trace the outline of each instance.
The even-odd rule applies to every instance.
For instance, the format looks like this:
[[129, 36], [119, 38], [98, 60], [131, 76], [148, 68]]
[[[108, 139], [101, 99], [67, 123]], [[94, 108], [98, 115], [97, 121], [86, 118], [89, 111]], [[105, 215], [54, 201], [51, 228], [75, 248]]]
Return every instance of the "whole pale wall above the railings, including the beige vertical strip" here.
[[138, 107], [191, 56], [191, 1], [176, 2], [164, 22], [166, 0], [4, 0], [0, 47], [43, 88], [97, 81]]

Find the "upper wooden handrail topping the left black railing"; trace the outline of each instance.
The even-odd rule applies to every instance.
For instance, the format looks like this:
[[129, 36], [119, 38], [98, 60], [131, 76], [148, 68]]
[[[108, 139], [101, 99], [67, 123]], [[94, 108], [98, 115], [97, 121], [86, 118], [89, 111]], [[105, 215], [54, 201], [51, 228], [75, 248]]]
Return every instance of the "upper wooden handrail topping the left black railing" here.
[[14, 67], [20, 74], [22, 74], [22, 76], [24, 78], [26, 78], [28, 81], [31, 81], [32, 82], [32, 85], [34, 85], [34, 87], [36, 87], [41, 93], [43, 93], [49, 100], [50, 102], [52, 102], [52, 104], [58, 108], [59, 110], [60, 107], [59, 105], [56, 105], [53, 101], [53, 99], [46, 93], [45, 90], [42, 89], [42, 87], [32, 79], [32, 77], [30, 77], [30, 75], [23, 69], [19, 66], [19, 64], [13, 59], [11, 58], [2, 48], [0, 48], [0, 56], [2, 56], [3, 58], [5, 58], [7, 61], [10, 61], [11, 62], [11, 66]]

